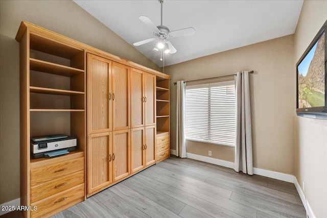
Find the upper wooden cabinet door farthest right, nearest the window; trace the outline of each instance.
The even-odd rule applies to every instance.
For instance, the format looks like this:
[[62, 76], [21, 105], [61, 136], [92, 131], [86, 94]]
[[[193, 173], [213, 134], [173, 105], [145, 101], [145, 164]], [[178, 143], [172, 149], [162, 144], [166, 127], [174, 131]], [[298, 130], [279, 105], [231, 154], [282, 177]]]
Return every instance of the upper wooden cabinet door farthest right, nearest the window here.
[[145, 75], [145, 125], [155, 125], [155, 75]]

